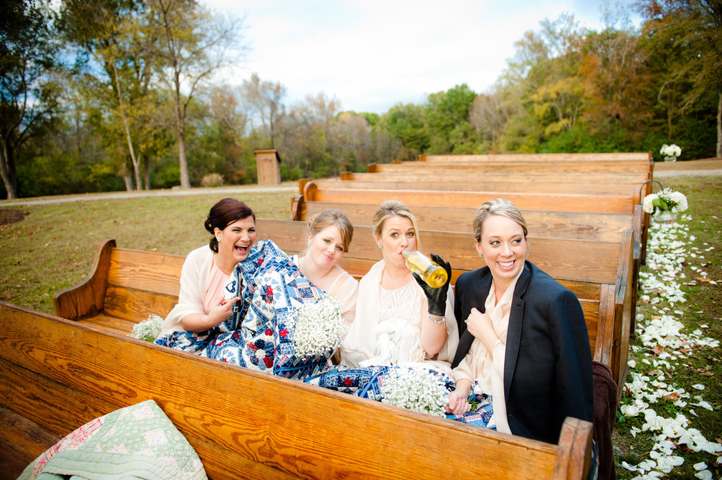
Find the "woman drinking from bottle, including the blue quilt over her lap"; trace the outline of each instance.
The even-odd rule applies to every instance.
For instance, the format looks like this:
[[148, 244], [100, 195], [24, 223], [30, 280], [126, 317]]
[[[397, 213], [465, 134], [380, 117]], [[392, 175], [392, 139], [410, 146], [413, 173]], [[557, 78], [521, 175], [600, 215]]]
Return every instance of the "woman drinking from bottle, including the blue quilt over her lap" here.
[[[359, 283], [356, 318], [342, 343], [342, 365], [308, 383], [443, 415], [458, 344], [451, 266], [432, 254], [447, 271], [440, 288], [412, 274], [401, 253], [420, 249], [421, 242], [416, 218], [400, 201], [378, 208], [373, 235], [383, 260]], [[430, 390], [432, 400], [419, 402], [419, 393]], [[393, 401], [396, 397], [411, 398], [414, 405], [401, 405]]]

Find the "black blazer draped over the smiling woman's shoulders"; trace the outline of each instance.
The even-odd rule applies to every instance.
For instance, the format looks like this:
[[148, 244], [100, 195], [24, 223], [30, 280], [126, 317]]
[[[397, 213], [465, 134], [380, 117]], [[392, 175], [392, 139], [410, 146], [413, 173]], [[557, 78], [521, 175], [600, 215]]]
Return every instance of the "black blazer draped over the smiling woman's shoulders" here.
[[[458, 277], [454, 314], [456, 367], [474, 341], [464, 320], [484, 312], [492, 284], [489, 267]], [[509, 315], [504, 394], [514, 435], [556, 444], [567, 416], [591, 422], [591, 348], [577, 297], [529, 261], [516, 282]]]

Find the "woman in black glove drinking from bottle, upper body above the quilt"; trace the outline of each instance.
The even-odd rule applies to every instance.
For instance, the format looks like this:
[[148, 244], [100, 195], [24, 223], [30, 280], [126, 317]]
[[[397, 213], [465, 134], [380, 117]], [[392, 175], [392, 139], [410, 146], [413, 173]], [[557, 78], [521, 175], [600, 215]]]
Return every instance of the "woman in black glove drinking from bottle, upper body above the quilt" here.
[[356, 318], [342, 349], [347, 367], [422, 366], [451, 375], [458, 327], [449, 288], [451, 266], [440, 288], [412, 274], [402, 253], [421, 249], [416, 218], [400, 201], [381, 204], [373, 217], [373, 236], [383, 260], [359, 283]]

